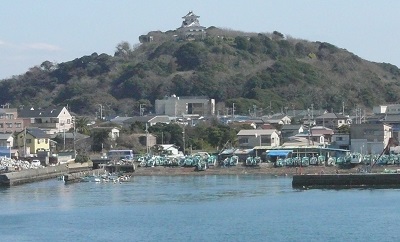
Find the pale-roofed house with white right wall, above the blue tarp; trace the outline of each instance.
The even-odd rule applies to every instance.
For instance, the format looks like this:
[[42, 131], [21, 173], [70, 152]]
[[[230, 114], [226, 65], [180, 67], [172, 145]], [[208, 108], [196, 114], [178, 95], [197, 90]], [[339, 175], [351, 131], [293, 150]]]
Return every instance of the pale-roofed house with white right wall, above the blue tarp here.
[[280, 138], [276, 129], [242, 129], [237, 134], [240, 149], [250, 149], [255, 146], [277, 147]]

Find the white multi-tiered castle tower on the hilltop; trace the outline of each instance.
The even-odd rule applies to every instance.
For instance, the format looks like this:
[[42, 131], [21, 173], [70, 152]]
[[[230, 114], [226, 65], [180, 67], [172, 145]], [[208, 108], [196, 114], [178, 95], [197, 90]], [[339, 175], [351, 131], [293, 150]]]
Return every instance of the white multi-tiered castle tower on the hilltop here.
[[205, 27], [199, 23], [200, 16], [197, 16], [190, 11], [188, 14], [182, 17], [184, 20], [181, 27], [177, 29], [179, 38], [181, 39], [196, 39], [204, 38], [206, 35]]

